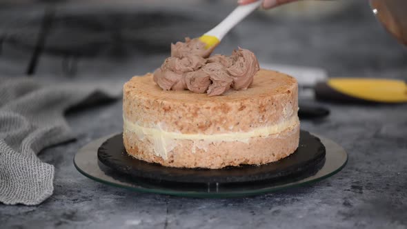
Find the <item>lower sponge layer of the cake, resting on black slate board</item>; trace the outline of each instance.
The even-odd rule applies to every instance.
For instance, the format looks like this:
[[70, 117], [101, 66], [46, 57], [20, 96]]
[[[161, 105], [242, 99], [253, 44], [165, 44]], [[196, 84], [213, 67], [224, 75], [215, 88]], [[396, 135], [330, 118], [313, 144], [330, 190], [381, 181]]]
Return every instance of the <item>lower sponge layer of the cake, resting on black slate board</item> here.
[[242, 164], [261, 165], [288, 157], [298, 147], [299, 123], [275, 135], [252, 137], [248, 143], [240, 141], [216, 141], [197, 147], [193, 140], [172, 140], [175, 147], [166, 159], [152, 152], [153, 142], [139, 139], [131, 131], [123, 133], [126, 151], [137, 159], [160, 163], [162, 166], [179, 168], [224, 168]]

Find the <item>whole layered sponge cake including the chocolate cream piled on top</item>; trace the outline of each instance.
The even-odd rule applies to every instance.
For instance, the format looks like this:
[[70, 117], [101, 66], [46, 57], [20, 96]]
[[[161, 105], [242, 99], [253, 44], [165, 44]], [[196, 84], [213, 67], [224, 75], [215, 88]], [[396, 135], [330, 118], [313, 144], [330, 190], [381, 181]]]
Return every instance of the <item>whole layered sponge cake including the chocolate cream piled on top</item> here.
[[171, 45], [155, 72], [123, 86], [123, 143], [132, 157], [162, 166], [261, 165], [299, 143], [297, 81], [259, 70], [239, 48], [214, 55], [199, 39]]

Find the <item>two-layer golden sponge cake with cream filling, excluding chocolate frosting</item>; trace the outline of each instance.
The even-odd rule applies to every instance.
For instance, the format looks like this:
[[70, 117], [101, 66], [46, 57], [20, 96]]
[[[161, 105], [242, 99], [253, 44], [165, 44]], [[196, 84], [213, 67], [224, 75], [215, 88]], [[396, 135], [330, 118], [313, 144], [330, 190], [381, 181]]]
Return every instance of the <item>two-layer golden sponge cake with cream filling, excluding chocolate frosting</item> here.
[[163, 90], [152, 74], [123, 87], [123, 141], [129, 155], [163, 166], [223, 168], [264, 164], [299, 142], [297, 81], [259, 70], [247, 90], [208, 97]]

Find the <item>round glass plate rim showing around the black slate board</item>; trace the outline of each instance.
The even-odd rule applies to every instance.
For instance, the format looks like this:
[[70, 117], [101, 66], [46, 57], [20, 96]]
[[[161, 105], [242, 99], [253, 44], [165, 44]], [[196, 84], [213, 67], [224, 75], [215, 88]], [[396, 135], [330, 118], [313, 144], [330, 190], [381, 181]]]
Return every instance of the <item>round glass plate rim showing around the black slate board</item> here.
[[81, 174], [92, 180], [118, 188], [126, 188], [136, 192], [150, 192], [181, 197], [245, 197], [250, 195], [261, 195], [286, 188], [304, 186], [335, 175], [335, 173], [344, 168], [348, 161], [348, 155], [341, 146], [330, 139], [317, 136], [326, 147], [325, 163], [315, 175], [311, 175], [304, 179], [295, 181], [283, 180], [277, 183], [268, 183], [267, 181], [264, 181], [259, 183], [234, 183], [232, 185], [216, 183], [200, 186], [191, 186], [183, 183], [150, 182], [145, 179], [136, 179], [135, 177], [129, 177], [116, 172], [115, 170], [111, 170], [97, 159], [97, 150], [99, 146], [112, 136], [114, 135], [101, 137], [100, 139], [92, 141], [77, 152], [74, 158], [74, 164], [75, 168], [77, 168]]

